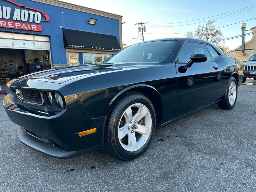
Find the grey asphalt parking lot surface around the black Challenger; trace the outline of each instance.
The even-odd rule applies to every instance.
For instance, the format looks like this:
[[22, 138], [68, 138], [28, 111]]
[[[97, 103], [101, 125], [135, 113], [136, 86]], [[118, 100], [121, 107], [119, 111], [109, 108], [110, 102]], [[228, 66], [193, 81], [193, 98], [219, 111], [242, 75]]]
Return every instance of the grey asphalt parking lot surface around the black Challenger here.
[[0, 191], [256, 191], [256, 81], [217, 105], [157, 129], [130, 162], [103, 152], [57, 159], [17, 138], [0, 96]]

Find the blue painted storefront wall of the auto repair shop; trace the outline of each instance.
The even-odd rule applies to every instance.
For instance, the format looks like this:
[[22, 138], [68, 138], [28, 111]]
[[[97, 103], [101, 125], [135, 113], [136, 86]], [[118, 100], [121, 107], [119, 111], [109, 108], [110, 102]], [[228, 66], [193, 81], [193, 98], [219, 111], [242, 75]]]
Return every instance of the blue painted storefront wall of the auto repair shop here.
[[[33, 35], [42, 35], [50, 37], [50, 49], [51, 49], [51, 60], [52, 64], [65, 64], [67, 63], [66, 59], [66, 49], [63, 44], [63, 33], [62, 28], [68, 28], [73, 30], [88, 31], [93, 33], [101, 33], [106, 35], [116, 36], [119, 42], [119, 21], [117, 19], [112, 19], [100, 15], [90, 14], [86, 12], [80, 12], [72, 9], [62, 8], [58, 6], [53, 6], [49, 4], [43, 4], [31, 0], [14, 0], [18, 4], [22, 4], [26, 7], [33, 7], [45, 12], [49, 15], [49, 22], [43, 21], [45, 17], [41, 15], [41, 22], [35, 23], [34, 20], [31, 24], [42, 25], [42, 32], [38, 31], [28, 31], [21, 29], [12, 29], [12, 28], [1, 28], [0, 31], [3, 32], [13, 32], [13, 33], [22, 33], [22, 34], [33, 34]], [[28, 11], [33, 11], [30, 9], [22, 8], [16, 4], [8, 2], [6, 0], [0, 0], [0, 6], [3, 11], [3, 6], [11, 7], [11, 17], [10, 19], [0, 18], [0, 20], [12, 20], [14, 9], [23, 9]], [[90, 18], [97, 19], [95, 25], [88, 24]], [[23, 21], [18, 21], [23, 22]], [[28, 21], [24, 23], [29, 23]], [[60, 26], [62, 28], [60, 28]], [[79, 54], [79, 59], [82, 54]]]

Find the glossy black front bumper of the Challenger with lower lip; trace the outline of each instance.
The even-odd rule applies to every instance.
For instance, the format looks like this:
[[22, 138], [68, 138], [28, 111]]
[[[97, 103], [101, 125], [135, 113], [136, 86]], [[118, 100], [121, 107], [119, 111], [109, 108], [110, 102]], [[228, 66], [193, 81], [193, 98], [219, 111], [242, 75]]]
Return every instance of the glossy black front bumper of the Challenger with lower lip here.
[[[103, 148], [105, 116], [90, 118], [76, 94], [67, 100], [67, 108], [55, 116], [39, 116], [19, 108], [9, 93], [3, 105], [11, 121], [18, 125], [19, 140], [47, 155], [67, 158]], [[97, 128], [92, 134], [79, 136], [79, 132]]]

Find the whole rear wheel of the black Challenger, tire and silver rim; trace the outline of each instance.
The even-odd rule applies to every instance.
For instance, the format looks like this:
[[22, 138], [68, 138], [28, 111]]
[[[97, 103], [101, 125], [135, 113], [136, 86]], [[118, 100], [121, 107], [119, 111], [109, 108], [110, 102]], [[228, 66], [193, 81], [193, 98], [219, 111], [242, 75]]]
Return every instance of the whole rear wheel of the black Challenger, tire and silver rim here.
[[237, 83], [234, 77], [231, 77], [228, 81], [228, 87], [225, 95], [218, 103], [218, 106], [222, 109], [232, 109], [236, 104], [237, 98]]

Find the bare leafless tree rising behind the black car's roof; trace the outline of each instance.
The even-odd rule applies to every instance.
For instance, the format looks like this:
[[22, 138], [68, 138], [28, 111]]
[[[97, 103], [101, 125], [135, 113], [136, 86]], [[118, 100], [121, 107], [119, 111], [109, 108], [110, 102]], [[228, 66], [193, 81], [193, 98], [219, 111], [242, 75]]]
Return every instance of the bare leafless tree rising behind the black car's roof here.
[[202, 39], [209, 41], [215, 45], [220, 44], [220, 40], [224, 37], [220, 29], [216, 29], [213, 23], [215, 20], [208, 21], [206, 25], [199, 25], [195, 32], [186, 33], [186, 37]]

